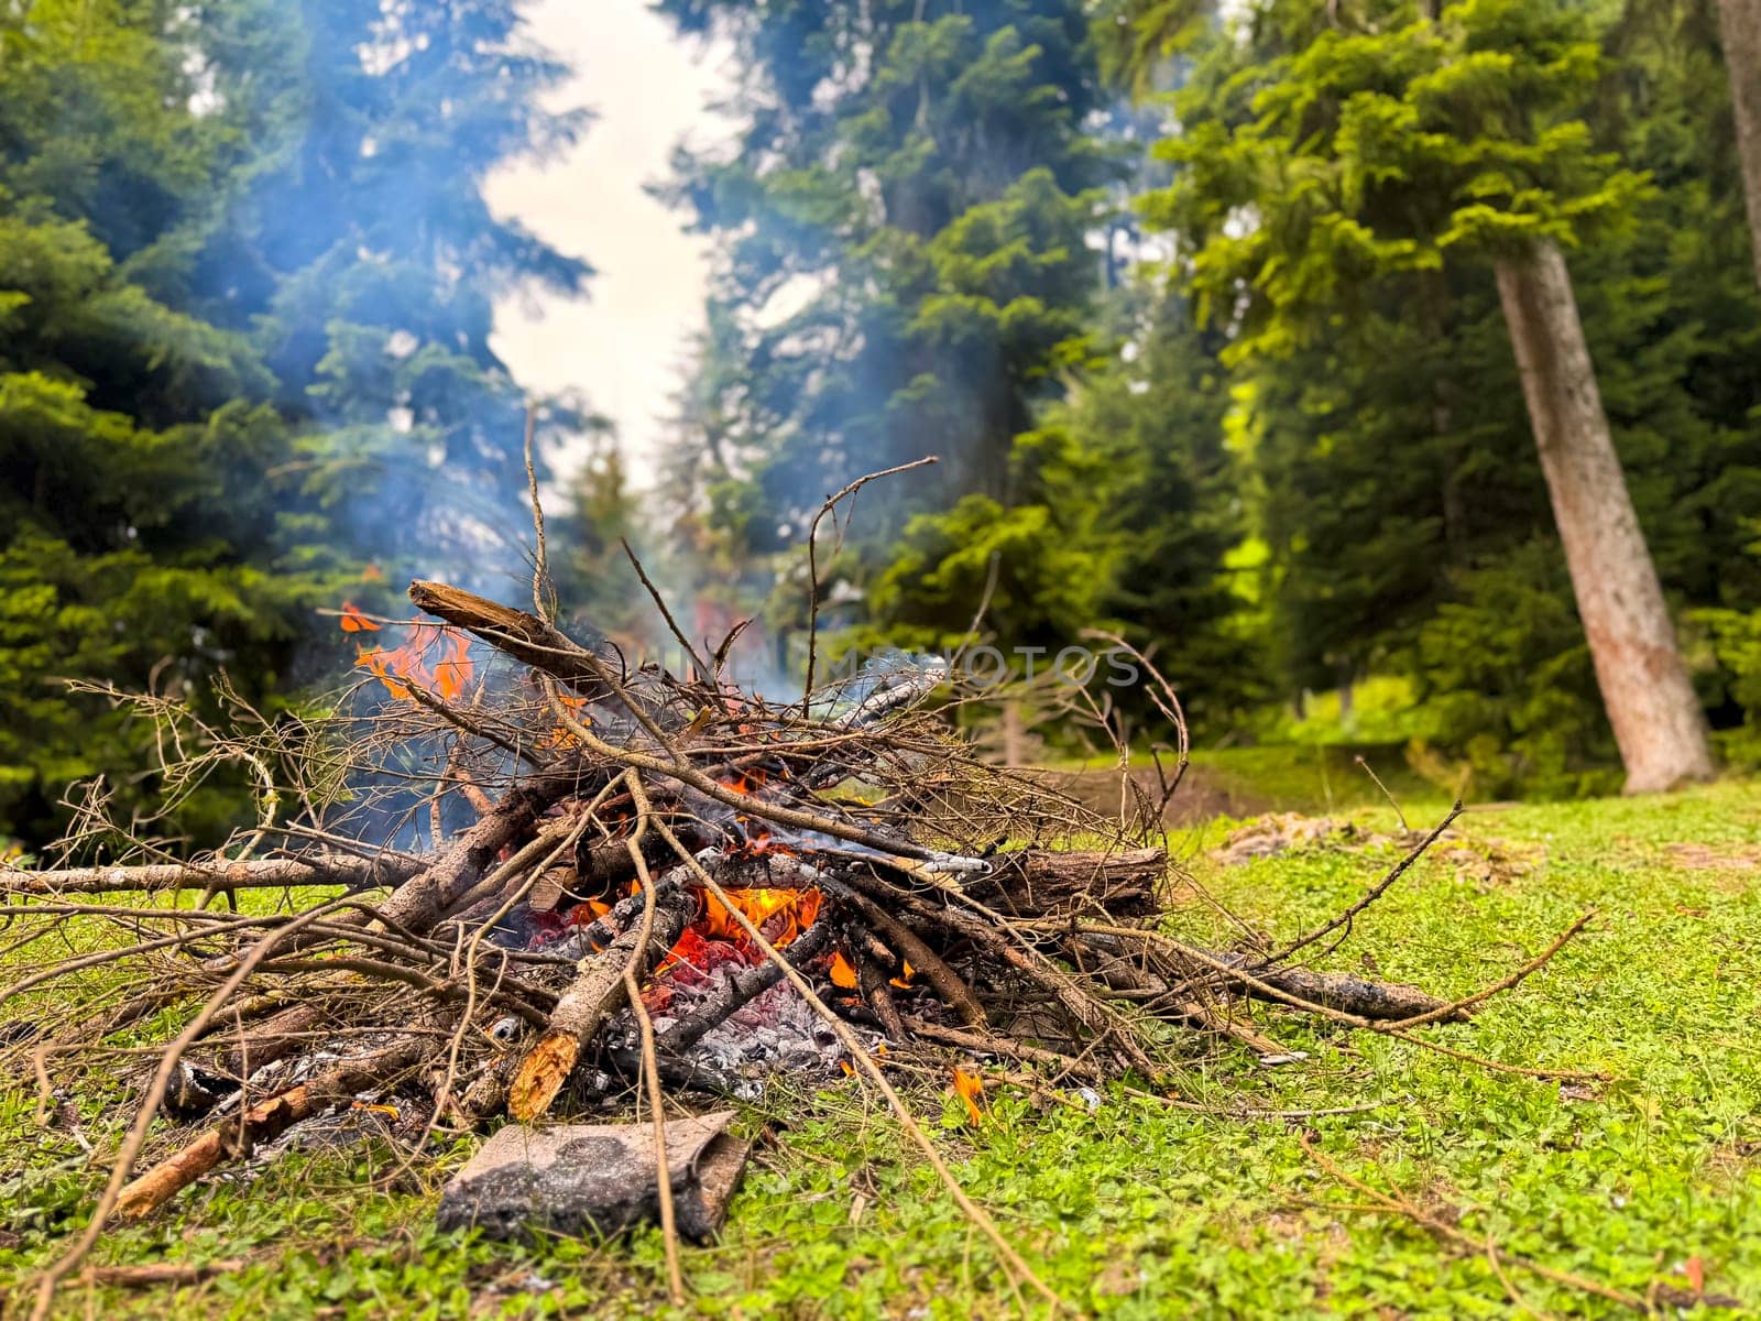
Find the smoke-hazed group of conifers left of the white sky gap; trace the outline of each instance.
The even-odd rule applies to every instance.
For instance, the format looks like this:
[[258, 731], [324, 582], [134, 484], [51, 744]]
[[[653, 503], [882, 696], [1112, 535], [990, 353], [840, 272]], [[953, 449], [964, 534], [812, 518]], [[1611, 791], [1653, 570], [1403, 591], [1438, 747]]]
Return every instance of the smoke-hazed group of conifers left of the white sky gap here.
[[[0, 833], [41, 840], [70, 780], [155, 791], [153, 729], [67, 680], [273, 717], [335, 678], [317, 608], [519, 567], [491, 301], [586, 269], [479, 185], [579, 116], [491, 0], [44, 0], [0, 62]], [[241, 812], [218, 775], [162, 830]]]

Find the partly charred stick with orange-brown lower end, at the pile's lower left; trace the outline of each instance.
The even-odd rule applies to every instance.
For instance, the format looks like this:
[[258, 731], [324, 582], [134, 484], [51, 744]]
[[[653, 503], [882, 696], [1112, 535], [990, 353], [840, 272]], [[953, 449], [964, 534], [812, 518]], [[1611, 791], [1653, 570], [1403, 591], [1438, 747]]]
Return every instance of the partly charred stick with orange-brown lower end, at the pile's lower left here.
[[250, 1155], [257, 1143], [271, 1141], [294, 1124], [310, 1118], [356, 1092], [382, 1087], [433, 1052], [428, 1037], [409, 1037], [352, 1060], [338, 1060], [308, 1081], [261, 1101], [238, 1118], [227, 1118], [194, 1143], [155, 1164], [129, 1184], [116, 1199], [116, 1214], [139, 1221], [164, 1207], [224, 1161]]

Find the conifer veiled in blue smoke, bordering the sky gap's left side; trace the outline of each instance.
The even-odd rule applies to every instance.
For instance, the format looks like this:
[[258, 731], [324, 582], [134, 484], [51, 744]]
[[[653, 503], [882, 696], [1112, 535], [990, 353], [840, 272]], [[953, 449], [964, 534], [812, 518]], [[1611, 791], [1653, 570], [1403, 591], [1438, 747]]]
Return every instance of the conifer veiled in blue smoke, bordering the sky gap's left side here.
[[590, 271], [491, 215], [483, 183], [574, 141], [583, 114], [541, 104], [567, 69], [512, 0], [238, 0], [201, 35], [254, 153], [190, 294], [262, 343], [306, 430], [303, 495], [354, 555], [505, 588], [530, 539], [527, 402], [490, 347], [495, 299]]

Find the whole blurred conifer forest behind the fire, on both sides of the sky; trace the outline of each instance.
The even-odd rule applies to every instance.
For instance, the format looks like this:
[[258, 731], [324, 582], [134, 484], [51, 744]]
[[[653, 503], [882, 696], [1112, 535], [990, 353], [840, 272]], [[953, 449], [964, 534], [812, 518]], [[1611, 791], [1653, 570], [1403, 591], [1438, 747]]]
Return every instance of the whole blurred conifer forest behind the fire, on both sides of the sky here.
[[[1761, 763], [1745, 4], [659, 0], [733, 42], [741, 132], [666, 185], [717, 268], [659, 490], [590, 400], [537, 410], [564, 602], [629, 627], [627, 535], [798, 678], [814, 511], [939, 454], [821, 560], [840, 646], [988, 597], [1002, 646], [1150, 650], [1201, 745], [1615, 789], [1500, 298], [1553, 252], [1717, 754]], [[352, 660], [321, 609], [519, 599], [493, 303], [592, 273], [483, 181], [590, 130], [564, 72], [511, 0], [0, 9], [0, 835], [151, 796], [102, 685], [296, 720]]]

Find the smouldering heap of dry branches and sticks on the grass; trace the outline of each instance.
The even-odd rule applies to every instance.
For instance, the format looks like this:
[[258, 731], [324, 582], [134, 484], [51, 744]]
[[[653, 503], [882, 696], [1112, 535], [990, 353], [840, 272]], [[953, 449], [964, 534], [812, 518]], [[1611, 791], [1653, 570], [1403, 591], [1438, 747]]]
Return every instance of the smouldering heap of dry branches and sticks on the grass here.
[[[579, 1113], [608, 1087], [645, 1087], [655, 1113], [662, 1092], [734, 1090], [694, 1046], [780, 983], [907, 1125], [882, 1039], [889, 1064], [956, 1048], [1153, 1089], [1205, 1037], [1289, 1055], [1249, 1000], [1405, 1036], [1490, 993], [1305, 967], [1425, 842], [1280, 948], [1245, 925], [1226, 949], [1182, 937], [1203, 900], [1155, 838], [1160, 805], [1102, 819], [977, 761], [946, 664], [782, 705], [724, 680], [733, 639], [699, 655], [674, 627], [682, 678], [572, 639], [542, 595], [410, 599], [430, 650], [363, 652], [389, 692], [370, 717], [220, 733], [155, 712], [171, 789], [224, 763], [259, 780], [262, 815], [225, 849], [178, 860], [136, 828], [106, 865], [0, 874], [9, 967], [35, 960], [0, 993], [4, 1062], [46, 1103], [118, 1074], [139, 1094], [90, 1233], [363, 1096], [419, 1097], [426, 1138]], [[1183, 766], [1178, 705], [1145, 669]], [[116, 847], [100, 819], [72, 842]], [[660, 1022], [653, 990], [710, 912], [750, 962]]]

